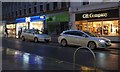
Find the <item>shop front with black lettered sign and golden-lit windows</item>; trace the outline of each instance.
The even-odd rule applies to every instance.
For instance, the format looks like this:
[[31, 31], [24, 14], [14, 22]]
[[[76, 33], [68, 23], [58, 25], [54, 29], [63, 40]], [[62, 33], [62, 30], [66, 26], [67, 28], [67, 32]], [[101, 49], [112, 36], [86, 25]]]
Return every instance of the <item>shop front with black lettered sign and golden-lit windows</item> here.
[[78, 13], [75, 16], [77, 30], [87, 30], [107, 37], [120, 36], [118, 9]]

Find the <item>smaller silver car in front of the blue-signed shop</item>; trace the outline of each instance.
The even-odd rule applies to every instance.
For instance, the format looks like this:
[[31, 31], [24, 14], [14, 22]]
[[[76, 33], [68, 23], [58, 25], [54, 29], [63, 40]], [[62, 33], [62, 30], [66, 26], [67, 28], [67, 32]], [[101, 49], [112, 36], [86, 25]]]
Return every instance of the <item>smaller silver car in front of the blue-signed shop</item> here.
[[25, 29], [21, 34], [22, 41], [33, 40], [34, 42], [50, 42], [51, 37], [47, 34], [43, 34], [40, 30], [37, 29]]

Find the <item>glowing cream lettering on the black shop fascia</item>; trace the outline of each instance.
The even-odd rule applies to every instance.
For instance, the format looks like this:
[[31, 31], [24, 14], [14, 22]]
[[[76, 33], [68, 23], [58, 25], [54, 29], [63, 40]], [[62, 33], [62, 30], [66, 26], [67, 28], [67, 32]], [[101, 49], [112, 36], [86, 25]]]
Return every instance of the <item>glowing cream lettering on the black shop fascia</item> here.
[[82, 18], [101, 18], [101, 17], [107, 17], [107, 13], [99, 13], [99, 14], [83, 14]]

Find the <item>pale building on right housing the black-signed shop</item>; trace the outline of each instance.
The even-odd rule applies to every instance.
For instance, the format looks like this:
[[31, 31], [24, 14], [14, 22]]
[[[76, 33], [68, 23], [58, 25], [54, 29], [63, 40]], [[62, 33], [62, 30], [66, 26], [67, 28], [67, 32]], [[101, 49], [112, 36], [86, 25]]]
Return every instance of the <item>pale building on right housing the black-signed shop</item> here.
[[120, 40], [119, 2], [101, 1], [70, 5], [72, 29], [87, 30], [112, 41]]

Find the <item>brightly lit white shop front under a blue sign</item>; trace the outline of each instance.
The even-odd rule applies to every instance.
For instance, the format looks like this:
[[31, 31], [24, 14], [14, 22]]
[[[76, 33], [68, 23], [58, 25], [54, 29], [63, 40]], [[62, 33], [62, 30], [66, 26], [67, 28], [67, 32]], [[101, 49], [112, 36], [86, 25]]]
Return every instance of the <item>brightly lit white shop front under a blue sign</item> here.
[[16, 19], [16, 37], [18, 38], [18, 32], [24, 29], [39, 29], [42, 30], [44, 27], [44, 20], [46, 16], [32, 16], [25, 18]]

